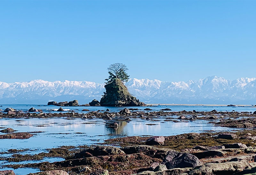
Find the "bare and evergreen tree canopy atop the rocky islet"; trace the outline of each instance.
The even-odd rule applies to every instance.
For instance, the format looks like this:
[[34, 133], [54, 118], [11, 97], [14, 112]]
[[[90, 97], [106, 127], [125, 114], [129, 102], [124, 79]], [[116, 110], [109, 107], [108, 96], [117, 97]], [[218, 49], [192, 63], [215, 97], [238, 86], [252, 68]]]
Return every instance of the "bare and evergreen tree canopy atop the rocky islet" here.
[[126, 67], [125, 64], [122, 63], [114, 63], [110, 64], [108, 67], [108, 74], [109, 77], [105, 79], [107, 82], [106, 84], [109, 84], [113, 82], [116, 78], [121, 79], [123, 82], [127, 82], [129, 80], [129, 75], [126, 73], [128, 68]]

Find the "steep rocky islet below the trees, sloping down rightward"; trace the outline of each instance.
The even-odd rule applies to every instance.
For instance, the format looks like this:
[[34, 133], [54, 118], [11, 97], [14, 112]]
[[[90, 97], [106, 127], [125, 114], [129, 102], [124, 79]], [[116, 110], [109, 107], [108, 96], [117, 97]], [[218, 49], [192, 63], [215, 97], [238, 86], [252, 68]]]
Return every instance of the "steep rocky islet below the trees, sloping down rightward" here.
[[105, 85], [106, 92], [100, 99], [100, 106], [146, 106], [133, 97], [120, 79]]

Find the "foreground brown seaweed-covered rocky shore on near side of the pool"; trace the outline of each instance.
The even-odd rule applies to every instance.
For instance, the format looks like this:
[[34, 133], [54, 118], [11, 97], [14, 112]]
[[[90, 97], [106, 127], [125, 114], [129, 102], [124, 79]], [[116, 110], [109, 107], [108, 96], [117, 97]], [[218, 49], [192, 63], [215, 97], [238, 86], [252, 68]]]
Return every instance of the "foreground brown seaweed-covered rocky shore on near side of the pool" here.
[[102, 146], [85, 146], [85, 149], [62, 147], [37, 155], [16, 153], [6, 160], [19, 162], [43, 157], [63, 157], [66, 160], [10, 164], [6, 167], [39, 168], [46, 171], [41, 174], [60, 171], [70, 175], [253, 174], [256, 173], [255, 138], [255, 130], [236, 133], [189, 133], [167, 137], [123, 137], [106, 140]]

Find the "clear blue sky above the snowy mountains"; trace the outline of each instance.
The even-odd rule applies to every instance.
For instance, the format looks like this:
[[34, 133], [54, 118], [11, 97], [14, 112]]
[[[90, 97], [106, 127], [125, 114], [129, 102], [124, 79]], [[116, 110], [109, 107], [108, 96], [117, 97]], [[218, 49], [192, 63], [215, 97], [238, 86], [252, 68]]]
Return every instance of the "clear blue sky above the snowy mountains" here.
[[256, 77], [256, 1], [0, 1], [0, 81]]

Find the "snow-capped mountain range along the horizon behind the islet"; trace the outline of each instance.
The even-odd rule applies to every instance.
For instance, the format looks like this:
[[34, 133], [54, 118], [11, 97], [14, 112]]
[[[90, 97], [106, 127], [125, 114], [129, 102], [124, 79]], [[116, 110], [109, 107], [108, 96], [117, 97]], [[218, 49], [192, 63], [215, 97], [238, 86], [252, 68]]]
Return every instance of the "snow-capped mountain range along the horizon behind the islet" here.
[[[100, 100], [105, 84], [88, 81], [33, 80], [0, 82], [0, 104], [47, 104], [71, 101], [79, 104]], [[206, 77], [197, 81], [163, 82], [132, 78], [125, 84], [130, 93], [145, 103], [168, 104], [256, 104], [256, 78], [226, 80]]]

